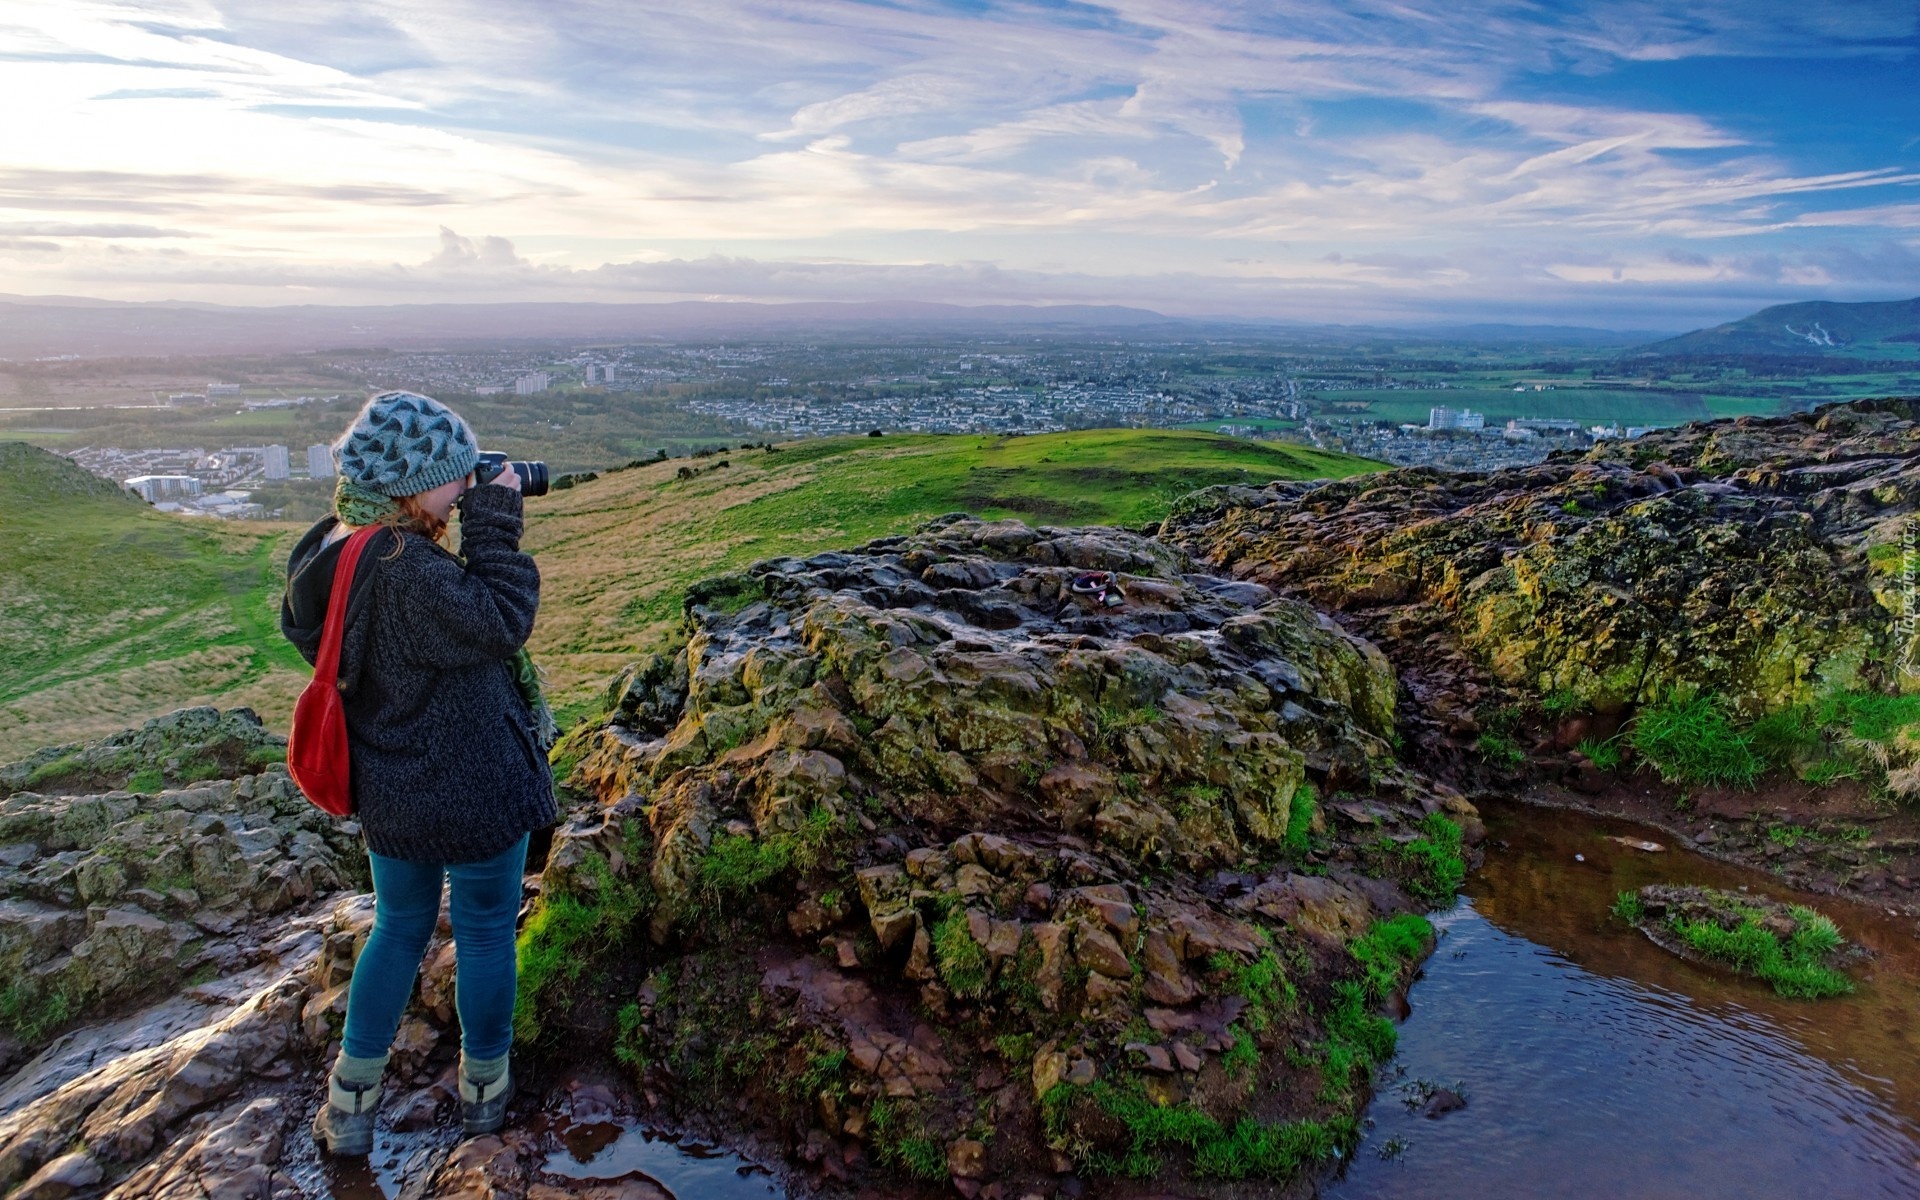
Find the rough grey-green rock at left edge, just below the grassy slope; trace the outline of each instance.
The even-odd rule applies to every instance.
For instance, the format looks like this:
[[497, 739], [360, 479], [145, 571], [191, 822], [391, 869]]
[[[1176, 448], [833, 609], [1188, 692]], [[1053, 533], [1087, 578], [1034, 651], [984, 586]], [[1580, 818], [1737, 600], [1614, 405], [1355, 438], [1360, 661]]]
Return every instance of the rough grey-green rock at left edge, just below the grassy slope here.
[[[200, 735], [184, 745], [232, 745], [230, 730], [257, 730], [250, 716], [188, 710], [81, 753], [179, 749], [186, 728]], [[0, 1052], [17, 1060], [83, 1014], [240, 970], [253, 925], [365, 883], [357, 829], [315, 810], [280, 764], [150, 795], [15, 791], [0, 801]]]

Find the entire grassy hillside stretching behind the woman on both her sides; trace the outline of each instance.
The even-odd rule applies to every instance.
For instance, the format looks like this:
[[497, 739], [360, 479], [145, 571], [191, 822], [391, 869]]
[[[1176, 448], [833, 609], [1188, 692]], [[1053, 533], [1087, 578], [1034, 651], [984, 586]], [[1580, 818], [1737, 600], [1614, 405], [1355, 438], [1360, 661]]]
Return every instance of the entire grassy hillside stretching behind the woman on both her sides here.
[[[687, 584], [755, 559], [958, 509], [1144, 524], [1210, 484], [1377, 467], [1165, 430], [839, 438], [637, 467], [530, 501], [526, 547], [545, 578], [534, 653], [564, 712], [676, 628]], [[309, 674], [278, 632], [298, 534], [167, 516], [65, 459], [0, 444], [0, 760], [188, 703], [252, 705], [284, 732]]]

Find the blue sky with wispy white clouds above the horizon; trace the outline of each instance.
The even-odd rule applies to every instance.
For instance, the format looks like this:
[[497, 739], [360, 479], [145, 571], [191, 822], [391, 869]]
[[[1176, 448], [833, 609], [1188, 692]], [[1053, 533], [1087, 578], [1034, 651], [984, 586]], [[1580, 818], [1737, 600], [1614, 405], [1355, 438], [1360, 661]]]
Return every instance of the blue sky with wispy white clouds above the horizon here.
[[1912, 0], [0, 0], [0, 294], [1680, 330], [1920, 294]]

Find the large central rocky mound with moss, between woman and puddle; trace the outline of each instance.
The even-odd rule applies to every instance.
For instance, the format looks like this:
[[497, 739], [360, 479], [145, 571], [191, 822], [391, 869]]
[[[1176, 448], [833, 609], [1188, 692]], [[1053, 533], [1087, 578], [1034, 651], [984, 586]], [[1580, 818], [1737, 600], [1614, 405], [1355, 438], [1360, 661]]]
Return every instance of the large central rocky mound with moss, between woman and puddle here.
[[643, 1089], [824, 1185], [1284, 1179], [1344, 1144], [1425, 952], [1380, 922], [1476, 831], [1394, 760], [1371, 643], [1148, 538], [960, 516], [710, 580], [687, 632], [576, 741], [599, 806], [543, 889], [647, 918]]

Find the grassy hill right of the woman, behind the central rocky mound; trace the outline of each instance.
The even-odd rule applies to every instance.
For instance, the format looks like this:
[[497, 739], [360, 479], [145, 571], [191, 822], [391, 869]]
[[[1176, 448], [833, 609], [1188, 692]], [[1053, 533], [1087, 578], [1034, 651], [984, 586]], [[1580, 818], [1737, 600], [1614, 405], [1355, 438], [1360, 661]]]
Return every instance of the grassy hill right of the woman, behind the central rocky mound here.
[[536, 505], [526, 543], [545, 591], [534, 649], [563, 708], [664, 639], [687, 584], [755, 559], [858, 543], [952, 511], [1142, 524], [1212, 484], [1380, 467], [1171, 430], [831, 438], [699, 459], [701, 474], [678, 478], [685, 465], [622, 470]]

